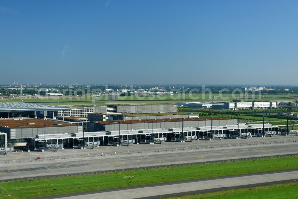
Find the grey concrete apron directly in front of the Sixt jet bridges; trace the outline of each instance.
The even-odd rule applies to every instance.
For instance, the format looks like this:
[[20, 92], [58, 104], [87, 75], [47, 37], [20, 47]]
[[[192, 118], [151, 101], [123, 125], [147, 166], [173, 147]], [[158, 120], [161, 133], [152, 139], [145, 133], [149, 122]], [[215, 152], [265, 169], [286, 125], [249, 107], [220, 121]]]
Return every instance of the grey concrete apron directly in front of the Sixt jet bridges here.
[[[55, 151], [46, 151], [46, 152], [40, 152], [40, 151], [31, 151], [31, 152], [17, 152], [17, 153], [9, 153], [7, 155], [0, 155], [0, 164], [5, 162], [13, 162], [13, 160], [16, 161], [28, 161], [30, 158], [31, 160], [35, 159], [36, 157], [41, 157], [42, 159], [57, 159], [59, 157], [61, 158], [71, 158], [71, 157], [85, 157], [85, 156], [94, 156], [101, 155], [101, 154], [119, 154], [119, 153], [128, 153], [128, 151], [131, 152], [145, 152], [145, 151], [156, 151], [156, 150], [164, 150], [164, 149], [176, 149], [179, 150], [181, 147], [183, 149], [190, 149], [190, 148], [197, 148], [198, 146], [200, 148], [203, 147], [218, 147], [218, 145], [226, 147], [230, 144], [230, 146], [234, 145], [253, 145], [253, 144], [267, 144], [267, 143], [280, 143], [280, 142], [294, 142], [298, 140], [298, 136], [295, 135], [289, 135], [289, 136], [273, 136], [273, 137], [251, 137], [247, 139], [223, 139], [223, 140], [195, 140], [193, 142], [186, 141], [183, 143], [178, 142], [165, 142], [162, 144], [132, 144], [130, 146], [100, 146], [95, 149], [64, 149], [64, 150], [58, 150]], [[27, 149], [24, 149], [27, 150]], [[89, 155], [88, 155], [89, 154]], [[6, 161], [5, 161], [6, 160]]]

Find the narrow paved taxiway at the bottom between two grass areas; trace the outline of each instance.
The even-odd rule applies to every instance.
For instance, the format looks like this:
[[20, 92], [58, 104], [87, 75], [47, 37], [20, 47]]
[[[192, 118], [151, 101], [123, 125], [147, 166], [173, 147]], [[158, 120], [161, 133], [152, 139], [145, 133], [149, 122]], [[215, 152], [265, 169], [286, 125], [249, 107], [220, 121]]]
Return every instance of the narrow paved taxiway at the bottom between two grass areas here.
[[139, 188], [124, 188], [99, 190], [75, 194], [65, 194], [63, 196], [50, 196], [43, 198], [63, 198], [63, 199], [131, 199], [131, 198], [164, 198], [168, 196], [187, 195], [199, 192], [210, 192], [225, 190], [230, 188], [260, 186], [262, 184], [274, 184], [293, 182], [297, 180], [298, 171], [276, 172], [267, 174], [250, 174], [244, 176], [223, 177], [220, 179], [201, 179], [191, 182], [163, 183], [160, 186], [143, 186]]

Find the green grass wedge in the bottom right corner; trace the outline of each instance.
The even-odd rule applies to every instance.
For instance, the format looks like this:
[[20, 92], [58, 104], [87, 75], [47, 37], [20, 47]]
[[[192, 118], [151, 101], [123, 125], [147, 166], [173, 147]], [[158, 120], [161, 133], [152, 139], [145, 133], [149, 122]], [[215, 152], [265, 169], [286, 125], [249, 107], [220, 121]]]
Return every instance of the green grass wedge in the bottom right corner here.
[[274, 184], [274, 185], [251, 187], [251, 188], [232, 189], [232, 190], [211, 192], [211, 193], [204, 193], [204, 194], [185, 195], [181, 197], [171, 197], [168, 199], [297, 198], [297, 194], [298, 194], [297, 189], [298, 189], [298, 182], [293, 182], [293, 183]]

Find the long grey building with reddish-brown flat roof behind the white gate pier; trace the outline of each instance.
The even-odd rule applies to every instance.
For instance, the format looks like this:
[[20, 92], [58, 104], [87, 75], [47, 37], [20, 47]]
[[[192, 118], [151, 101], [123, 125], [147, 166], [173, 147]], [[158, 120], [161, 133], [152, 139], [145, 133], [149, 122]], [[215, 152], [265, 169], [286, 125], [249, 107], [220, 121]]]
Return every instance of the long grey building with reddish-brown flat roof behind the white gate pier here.
[[[152, 122], [152, 123], [151, 123]], [[154, 120], [125, 120], [125, 121], [96, 121], [87, 122], [88, 131], [118, 131], [132, 129], [150, 129], [153, 128], [182, 128], [184, 127], [202, 127], [202, 126], [224, 126], [235, 125], [236, 119], [227, 119], [220, 117], [213, 118], [176, 118], [176, 119], [154, 119]]]

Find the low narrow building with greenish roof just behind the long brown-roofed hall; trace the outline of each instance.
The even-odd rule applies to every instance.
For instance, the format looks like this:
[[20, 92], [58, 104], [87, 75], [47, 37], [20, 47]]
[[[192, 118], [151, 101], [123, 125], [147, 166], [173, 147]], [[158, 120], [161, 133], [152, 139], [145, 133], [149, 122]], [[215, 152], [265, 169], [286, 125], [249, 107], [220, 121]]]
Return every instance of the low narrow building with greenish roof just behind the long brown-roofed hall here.
[[150, 120], [150, 119], [175, 119], [175, 118], [195, 118], [199, 114], [88, 114], [88, 121], [112, 121], [112, 120]]

